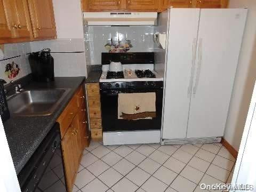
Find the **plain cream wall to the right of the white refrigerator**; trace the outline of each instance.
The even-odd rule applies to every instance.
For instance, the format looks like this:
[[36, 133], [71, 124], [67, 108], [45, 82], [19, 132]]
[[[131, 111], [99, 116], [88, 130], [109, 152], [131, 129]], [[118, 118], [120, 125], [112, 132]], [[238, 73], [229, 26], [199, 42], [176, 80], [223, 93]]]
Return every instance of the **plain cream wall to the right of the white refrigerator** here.
[[256, 1], [230, 0], [229, 8], [248, 7], [248, 17], [230, 101], [224, 138], [239, 149], [256, 74]]

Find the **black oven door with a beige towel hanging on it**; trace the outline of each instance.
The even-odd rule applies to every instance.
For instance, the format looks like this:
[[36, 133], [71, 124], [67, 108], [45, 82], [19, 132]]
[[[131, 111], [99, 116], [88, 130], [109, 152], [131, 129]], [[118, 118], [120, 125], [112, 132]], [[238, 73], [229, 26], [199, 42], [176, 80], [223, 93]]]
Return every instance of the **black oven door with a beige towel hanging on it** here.
[[[119, 93], [156, 93], [156, 117], [153, 119], [118, 119]], [[163, 89], [158, 90], [101, 90], [103, 132], [161, 130]]]

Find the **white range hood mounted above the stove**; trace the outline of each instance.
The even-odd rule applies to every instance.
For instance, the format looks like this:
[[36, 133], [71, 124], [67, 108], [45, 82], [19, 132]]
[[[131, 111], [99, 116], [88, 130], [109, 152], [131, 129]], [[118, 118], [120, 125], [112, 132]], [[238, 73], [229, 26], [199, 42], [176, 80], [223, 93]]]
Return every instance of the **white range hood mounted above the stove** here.
[[85, 25], [156, 25], [156, 12], [84, 12]]

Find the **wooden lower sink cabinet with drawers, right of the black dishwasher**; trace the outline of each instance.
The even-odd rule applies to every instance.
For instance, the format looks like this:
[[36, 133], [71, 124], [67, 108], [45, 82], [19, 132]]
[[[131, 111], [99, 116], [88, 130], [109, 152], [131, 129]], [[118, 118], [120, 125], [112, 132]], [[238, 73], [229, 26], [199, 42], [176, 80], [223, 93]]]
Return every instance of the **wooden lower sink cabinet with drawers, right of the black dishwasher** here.
[[80, 86], [57, 120], [60, 124], [62, 154], [69, 192], [73, 189], [83, 150], [90, 144], [84, 98], [83, 88]]

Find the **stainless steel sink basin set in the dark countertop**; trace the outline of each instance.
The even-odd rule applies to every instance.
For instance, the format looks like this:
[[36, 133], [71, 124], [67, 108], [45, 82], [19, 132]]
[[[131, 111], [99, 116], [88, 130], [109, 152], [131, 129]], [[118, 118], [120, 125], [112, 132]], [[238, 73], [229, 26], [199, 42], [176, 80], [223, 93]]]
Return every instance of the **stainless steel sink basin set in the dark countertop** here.
[[7, 100], [10, 113], [17, 116], [51, 115], [70, 89], [25, 90]]

